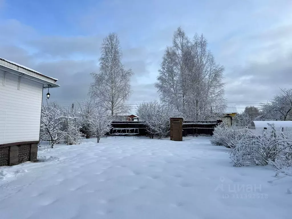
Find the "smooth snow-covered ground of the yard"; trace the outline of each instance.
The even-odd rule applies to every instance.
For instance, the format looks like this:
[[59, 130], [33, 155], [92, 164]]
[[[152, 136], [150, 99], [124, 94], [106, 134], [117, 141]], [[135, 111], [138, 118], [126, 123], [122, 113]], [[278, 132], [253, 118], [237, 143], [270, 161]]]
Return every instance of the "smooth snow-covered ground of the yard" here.
[[292, 178], [230, 164], [208, 137], [90, 139], [0, 167], [0, 218], [290, 218]]

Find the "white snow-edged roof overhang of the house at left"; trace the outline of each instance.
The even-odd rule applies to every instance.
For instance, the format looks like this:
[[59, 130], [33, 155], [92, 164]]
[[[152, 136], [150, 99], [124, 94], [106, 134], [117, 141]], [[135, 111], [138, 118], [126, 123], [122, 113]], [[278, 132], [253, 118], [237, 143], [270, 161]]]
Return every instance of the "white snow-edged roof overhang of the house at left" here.
[[44, 74], [41, 74], [40, 72], [37, 72], [33, 69], [30, 69], [28, 67], [25, 67], [23, 65], [20, 65], [16, 62], [9, 61], [7, 59], [1, 58], [0, 57], [0, 69], [2, 69], [5, 72], [9, 72], [12, 74], [18, 74], [21, 75], [22, 77], [28, 78], [32, 81], [37, 81], [42, 84], [44, 84], [45, 88], [46, 87], [59, 87], [56, 82], [58, 79], [48, 77]]

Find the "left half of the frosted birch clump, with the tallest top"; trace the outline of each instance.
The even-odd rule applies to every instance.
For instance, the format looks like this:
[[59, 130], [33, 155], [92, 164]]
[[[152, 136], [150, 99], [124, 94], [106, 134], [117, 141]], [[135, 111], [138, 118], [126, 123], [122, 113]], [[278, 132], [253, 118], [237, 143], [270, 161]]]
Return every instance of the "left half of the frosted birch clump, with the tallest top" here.
[[185, 114], [187, 103], [188, 62], [190, 61], [190, 40], [181, 27], [173, 34], [173, 46], [167, 47], [163, 61], [158, 70], [158, 82], [155, 87], [160, 92], [160, 98]]

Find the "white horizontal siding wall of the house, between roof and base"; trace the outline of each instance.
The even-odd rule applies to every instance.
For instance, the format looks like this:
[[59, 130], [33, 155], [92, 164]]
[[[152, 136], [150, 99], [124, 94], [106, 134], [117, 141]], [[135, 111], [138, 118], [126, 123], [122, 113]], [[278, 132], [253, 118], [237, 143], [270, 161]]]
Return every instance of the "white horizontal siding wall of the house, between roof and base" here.
[[0, 70], [0, 145], [38, 141], [43, 85]]

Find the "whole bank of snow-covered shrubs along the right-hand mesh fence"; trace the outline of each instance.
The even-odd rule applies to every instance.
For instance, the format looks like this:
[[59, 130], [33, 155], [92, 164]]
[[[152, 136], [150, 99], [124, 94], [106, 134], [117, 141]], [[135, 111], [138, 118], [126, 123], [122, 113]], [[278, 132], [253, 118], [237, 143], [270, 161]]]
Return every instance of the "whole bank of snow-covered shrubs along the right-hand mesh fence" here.
[[234, 166], [270, 165], [277, 171], [276, 175], [292, 176], [291, 136], [277, 131], [274, 124], [268, 126], [270, 130], [261, 134], [249, 128], [220, 124], [214, 130], [211, 143], [230, 148]]

